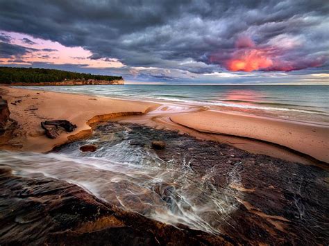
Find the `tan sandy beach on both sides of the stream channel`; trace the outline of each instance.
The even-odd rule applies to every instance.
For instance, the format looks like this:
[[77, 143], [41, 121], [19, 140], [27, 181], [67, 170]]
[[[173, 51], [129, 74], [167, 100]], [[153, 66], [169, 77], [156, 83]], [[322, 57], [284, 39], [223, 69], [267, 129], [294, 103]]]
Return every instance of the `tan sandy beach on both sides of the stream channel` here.
[[[15, 136], [8, 143], [2, 143], [1, 148], [7, 150], [47, 152], [62, 143], [89, 136], [92, 133], [90, 125], [93, 123], [119, 116], [144, 114], [160, 106], [156, 103], [135, 100], [115, 100], [11, 87], [0, 87], [0, 89], [3, 98], [8, 100], [10, 118], [17, 121], [19, 125], [15, 131]], [[15, 103], [16, 100], [22, 100], [22, 102]], [[163, 108], [160, 112], [165, 112], [165, 110], [166, 108]], [[200, 112], [200, 110], [195, 109], [194, 111], [169, 115], [166, 127], [179, 130], [178, 126], [182, 125], [195, 130], [196, 135], [197, 132], [203, 132], [212, 135], [219, 134], [223, 137], [228, 135], [257, 139], [274, 143], [319, 161], [329, 162], [328, 125], [210, 110]], [[149, 117], [150, 120], [155, 118], [152, 114], [151, 116]], [[130, 122], [134, 121], [133, 117], [129, 118]], [[53, 119], [66, 119], [76, 124], [77, 128], [74, 132], [60, 134], [57, 139], [48, 139], [44, 136], [40, 122]]]

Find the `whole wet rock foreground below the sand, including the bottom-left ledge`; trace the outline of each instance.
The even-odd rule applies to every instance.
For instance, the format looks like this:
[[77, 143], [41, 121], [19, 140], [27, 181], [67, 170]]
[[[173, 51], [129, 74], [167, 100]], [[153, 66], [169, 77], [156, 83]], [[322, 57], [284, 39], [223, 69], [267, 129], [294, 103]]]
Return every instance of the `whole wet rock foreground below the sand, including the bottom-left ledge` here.
[[[166, 148], [153, 150], [155, 140], [164, 141]], [[90, 143], [98, 146], [95, 152], [79, 150]], [[6, 226], [0, 230], [0, 242], [325, 245], [329, 240], [328, 169], [133, 124], [100, 125], [91, 139], [55, 152], [115, 162], [104, 162], [104, 169], [100, 162], [90, 168], [92, 162], [76, 174], [85, 162], [59, 166], [57, 161], [60, 172], [51, 169], [52, 163], [48, 169], [40, 167], [40, 173], [33, 166], [35, 173], [24, 178], [3, 171], [0, 224]], [[112, 166], [118, 162], [122, 168], [130, 159], [138, 162], [131, 173], [115, 173]], [[17, 175], [21, 172], [17, 159], [2, 163], [10, 164]], [[0, 167], [3, 164], [0, 161]], [[44, 172], [58, 179], [44, 177]], [[64, 179], [87, 186], [102, 200]], [[183, 229], [117, 207], [149, 218], [167, 209], [162, 214], [180, 220], [166, 220]], [[31, 236], [31, 230], [38, 232]]]

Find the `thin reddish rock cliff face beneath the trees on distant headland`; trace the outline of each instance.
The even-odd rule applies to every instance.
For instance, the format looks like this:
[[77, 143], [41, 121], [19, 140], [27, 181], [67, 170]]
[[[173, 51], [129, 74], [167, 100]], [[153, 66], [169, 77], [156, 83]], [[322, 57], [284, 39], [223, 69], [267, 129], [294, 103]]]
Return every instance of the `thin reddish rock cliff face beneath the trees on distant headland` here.
[[26, 82], [15, 82], [12, 85], [124, 85], [124, 80], [65, 80], [62, 82], [38, 82], [38, 83], [26, 83]]

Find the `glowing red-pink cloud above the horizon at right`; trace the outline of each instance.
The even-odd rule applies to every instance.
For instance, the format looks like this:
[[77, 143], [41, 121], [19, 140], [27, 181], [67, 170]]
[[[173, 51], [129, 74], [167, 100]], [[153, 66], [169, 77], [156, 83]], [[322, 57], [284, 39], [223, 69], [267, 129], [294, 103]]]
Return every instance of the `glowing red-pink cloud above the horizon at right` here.
[[[294, 49], [294, 46], [292, 48]], [[229, 71], [292, 71], [320, 67], [324, 58], [283, 59], [287, 49], [277, 46], [258, 46], [250, 37], [239, 37], [230, 53], [211, 55], [210, 62], [219, 63]]]

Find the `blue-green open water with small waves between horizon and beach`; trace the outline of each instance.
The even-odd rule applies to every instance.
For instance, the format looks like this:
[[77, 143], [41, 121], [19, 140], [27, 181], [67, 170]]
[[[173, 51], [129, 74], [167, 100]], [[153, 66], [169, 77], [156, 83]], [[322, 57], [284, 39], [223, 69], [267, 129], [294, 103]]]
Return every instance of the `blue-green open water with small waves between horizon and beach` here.
[[329, 122], [329, 86], [326, 85], [86, 85], [28, 88]]

